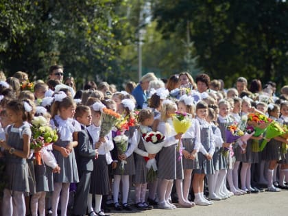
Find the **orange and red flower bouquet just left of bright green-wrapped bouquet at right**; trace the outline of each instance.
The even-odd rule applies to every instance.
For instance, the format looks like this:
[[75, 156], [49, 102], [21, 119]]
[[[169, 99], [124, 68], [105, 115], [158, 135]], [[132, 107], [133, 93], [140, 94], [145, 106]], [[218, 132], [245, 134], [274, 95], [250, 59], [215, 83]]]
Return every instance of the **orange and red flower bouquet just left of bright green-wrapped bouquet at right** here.
[[[253, 136], [260, 136], [261, 134], [263, 134], [271, 122], [272, 119], [269, 119], [268, 117], [259, 112], [250, 113], [248, 115], [248, 125], [254, 128]], [[252, 152], [260, 152], [258, 140], [254, 139], [252, 141]]]

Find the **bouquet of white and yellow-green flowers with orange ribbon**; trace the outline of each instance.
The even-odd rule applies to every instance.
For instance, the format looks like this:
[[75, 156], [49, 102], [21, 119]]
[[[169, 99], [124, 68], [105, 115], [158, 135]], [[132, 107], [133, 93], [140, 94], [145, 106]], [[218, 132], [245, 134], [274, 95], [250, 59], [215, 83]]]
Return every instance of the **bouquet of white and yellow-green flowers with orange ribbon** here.
[[50, 145], [58, 140], [58, 134], [56, 130], [53, 130], [49, 125], [45, 117], [34, 117], [32, 120], [32, 137], [30, 141], [30, 149], [34, 151], [36, 163], [41, 165], [40, 149], [47, 145]]

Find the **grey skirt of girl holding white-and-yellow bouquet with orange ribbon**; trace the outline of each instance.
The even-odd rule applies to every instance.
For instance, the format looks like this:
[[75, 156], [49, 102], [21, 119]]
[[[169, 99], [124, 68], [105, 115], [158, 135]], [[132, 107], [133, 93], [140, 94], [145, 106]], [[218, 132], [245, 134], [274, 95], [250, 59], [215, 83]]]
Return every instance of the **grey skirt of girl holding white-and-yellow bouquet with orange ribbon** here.
[[52, 168], [42, 164], [34, 165], [34, 170], [36, 180], [36, 192], [52, 192], [54, 190]]

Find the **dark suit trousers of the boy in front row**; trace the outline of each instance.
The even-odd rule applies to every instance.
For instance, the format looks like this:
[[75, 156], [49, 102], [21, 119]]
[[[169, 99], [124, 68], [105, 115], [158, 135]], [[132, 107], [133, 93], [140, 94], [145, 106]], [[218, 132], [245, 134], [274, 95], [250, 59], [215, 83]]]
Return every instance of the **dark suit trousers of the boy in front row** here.
[[77, 183], [73, 205], [73, 214], [86, 215], [88, 194], [90, 190], [91, 171], [80, 170], [78, 173], [80, 182]]

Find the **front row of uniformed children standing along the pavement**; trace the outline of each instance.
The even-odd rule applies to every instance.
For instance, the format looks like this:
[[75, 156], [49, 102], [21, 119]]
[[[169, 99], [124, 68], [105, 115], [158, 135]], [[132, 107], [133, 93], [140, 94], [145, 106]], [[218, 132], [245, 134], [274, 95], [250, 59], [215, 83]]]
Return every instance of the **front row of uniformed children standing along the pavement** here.
[[[177, 105], [171, 100], [163, 100], [164, 98], [158, 97], [161, 101], [160, 113], [156, 110], [154, 110], [155, 112], [146, 109], [141, 110], [139, 112], [139, 127], [128, 131], [130, 146], [127, 152], [123, 155], [116, 154], [115, 157], [112, 154], [111, 157], [110, 151], [114, 147], [112, 132], [105, 137], [99, 137], [101, 108], [104, 104], [96, 102], [91, 108], [87, 106], [76, 107], [71, 97], [67, 97], [64, 93], [56, 95], [51, 106], [50, 122], [52, 127], [58, 128], [59, 139], [53, 144], [53, 149], [51, 146], [41, 149], [43, 156], [46, 156], [43, 157], [43, 160], [47, 166], [34, 167], [35, 188], [29, 184], [31, 182], [29, 178], [34, 175], [31, 173], [32, 167], [28, 165], [29, 160], [25, 159], [29, 157], [30, 152], [29, 141], [32, 133], [29, 129], [29, 122], [32, 120], [35, 111], [34, 105], [29, 100], [9, 101], [5, 107], [5, 112], [10, 125], [5, 130], [5, 141], [1, 141], [1, 147], [5, 149], [5, 174], [7, 177], [7, 186], [3, 195], [4, 215], [12, 215], [13, 213], [22, 215], [25, 212], [24, 194], [33, 193], [34, 191], [36, 193], [32, 195], [32, 215], [38, 215], [38, 211], [39, 215], [45, 214], [43, 200], [45, 200], [46, 191], [53, 192], [51, 198], [53, 215], [57, 215], [59, 200], [61, 200], [61, 215], [67, 215], [69, 186], [76, 182], [78, 184], [73, 213], [84, 215], [88, 207], [89, 215], [105, 215], [101, 211], [101, 199], [102, 195], [110, 194], [108, 169], [110, 164], [114, 173], [112, 189], [115, 208], [117, 210], [121, 210], [121, 208], [131, 209], [128, 204], [129, 176], [134, 176], [136, 207], [151, 208], [145, 201], [147, 169], [145, 168], [143, 156], [155, 158], [156, 155], [148, 154], [143, 147], [143, 143], [141, 143], [141, 139], [139, 139], [144, 129], [145, 131], [151, 130], [148, 129], [149, 127], [152, 127], [152, 130], [162, 132], [167, 137], [163, 149], [157, 156], [158, 181], [153, 182], [149, 187], [153, 191], [153, 193], [149, 193], [149, 200], [155, 201], [155, 191], [158, 185], [157, 201], [159, 208], [176, 208], [170, 200], [173, 180], [176, 180], [178, 206], [182, 207], [192, 207], [195, 204], [210, 205], [213, 204], [211, 200], [226, 199], [232, 194], [241, 195], [255, 191], [251, 187], [250, 167], [252, 163], [256, 163], [258, 155], [250, 149], [249, 141], [247, 144], [239, 142], [239, 145], [234, 147], [231, 146], [231, 143], [225, 142], [225, 125], [232, 121], [230, 116], [231, 106], [228, 101], [220, 101], [219, 117], [217, 117], [215, 110], [208, 108], [204, 101], [198, 101], [194, 110], [193, 99], [187, 95], [182, 96]], [[117, 107], [114, 103], [109, 104], [106, 101], [106, 106], [109, 106], [108, 108], [112, 110], [119, 110], [119, 107], [122, 106], [126, 113], [130, 113], [134, 109], [131, 106], [132, 103], [132, 101], [126, 99], [126, 101], [121, 101]], [[234, 108], [237, 107], [237, 103], [240, 102], [235, 99]], [[241, 107], [241, 115], [245, 115], [245, 112], [246, 114], [253, 112], [248, 101], [243, 100]], [[277, 118], [278, 110], [280, 110], [282, 121], [287, 123], [287, 104], [283, 103], [280, 109], [277, 110], [277, 108], [276, 105], [273, 108], [270, 106], [269, 114]], [[173, 130], [171, 117], [176, 110], [188, 112], [191, 115], [191, 128], [185, 134], [176, 134]], [[239, 119], [239, 110], [235, 109], [232, 112], [236, 113], [234, 118]], [[194, 113], [196, 117], [193, 117]], [[74, 115], [75, 118], [73, 119]], [[47, 115], [47, 118], [49, 118], [49, 115]], [[176, 152], [178, 139], [181, 139], [184, 145], [182, 158]], [[261, 138], [252, 137], [252, 139]], [[278, 141], [283, 142], [280, 138]], [[284, 141], [287, 142], [287, 140]], [[267, 160], [271, 161], [268, 189], [269, 191], [278, 191], [271, 184], [276, 167], [275, 161], [278, 161], [279, 157], [283, 157], [279, 183], [285, 187], [283, 178], [288, 176], [288, 157], [275, 153], [278, 152], [278, 145], [276, 147], [276, 145], [268, 143], [267, 147], [274, 149], [273, 155], [271, 155], [271, 152], [267, 152]], [[228, 158], [221, 154], [224, 148], [229, 151]], [[121, 172], [120, 163], [117, 163], [117, 160], [128, 162], [125, 165], [125, 173]], [[241, 189], [238, 187], [240, 162], [242, 162]], [[194, 202], [188, 199], [192, 176]], [[208, 178], [210, 200], [204, 197], [205, 176]], [[226, 188], [226, 178], [231, 192]], [[19, 184], [19, 179], [23, 180], [20, 182], [21, 184]], [[120, 180], [122, 180], [123, 189], [121, 193], [122, 205], [118, 199]], [[93, 196], [95, 196], [94, 199]], [[92, 200], [95, 200], [95, 204], [92, 204]]]

